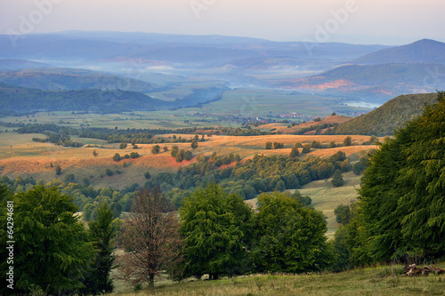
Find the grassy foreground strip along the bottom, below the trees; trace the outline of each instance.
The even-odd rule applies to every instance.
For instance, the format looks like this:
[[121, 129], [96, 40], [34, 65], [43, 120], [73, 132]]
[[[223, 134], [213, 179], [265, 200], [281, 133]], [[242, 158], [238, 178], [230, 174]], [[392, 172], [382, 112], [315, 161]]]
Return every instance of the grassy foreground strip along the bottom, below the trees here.
[[[434, 264], [445, 268], [445, 264]], [[182, 295], [182, 296], [294, 296], [294, 295], [445, 295], [445, 275], [409, 277], [403, 267], [379, 266], [356, 268], [336, 274], [255, 275], [216, 281], [196, 280], [185, 283], [156, 284], [153, 290], [124, 292], [131, 289], [119, 284], [109, 295]]]

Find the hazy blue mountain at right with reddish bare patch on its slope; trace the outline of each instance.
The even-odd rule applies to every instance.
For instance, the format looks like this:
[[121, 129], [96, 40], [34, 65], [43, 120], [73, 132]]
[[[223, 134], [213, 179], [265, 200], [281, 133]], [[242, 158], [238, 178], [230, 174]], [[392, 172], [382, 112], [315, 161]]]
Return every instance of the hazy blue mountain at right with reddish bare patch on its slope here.
[[277, 87], [384, 102], [404, 93], [445, 89], [445, 44], [423, 39], [370, 53], [346, 65]]

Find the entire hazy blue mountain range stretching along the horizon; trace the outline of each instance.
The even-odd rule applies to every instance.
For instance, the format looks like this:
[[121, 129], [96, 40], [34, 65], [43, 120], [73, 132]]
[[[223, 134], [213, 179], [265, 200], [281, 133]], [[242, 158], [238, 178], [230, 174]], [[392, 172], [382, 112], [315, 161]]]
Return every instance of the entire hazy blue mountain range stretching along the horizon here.
[[[0, 82], [44, 90], [113, 89], [124, 82], [131, 87], [117, 88], [150, 93], [173, 87], [162, 79], [157, 86], [152, 76], [145, 77], [159, 73], [233, 87], [320, 94], [345, 103], [382, 104], [401, 94], [445, 89], [445, 44], [428, 39], [389, 47], [65, 31], [20, 37], [16, 44], [10, 36], [0, 36], [0, 59]], [[140, 74], [138, 80], [126, 79], [128, 71]]]

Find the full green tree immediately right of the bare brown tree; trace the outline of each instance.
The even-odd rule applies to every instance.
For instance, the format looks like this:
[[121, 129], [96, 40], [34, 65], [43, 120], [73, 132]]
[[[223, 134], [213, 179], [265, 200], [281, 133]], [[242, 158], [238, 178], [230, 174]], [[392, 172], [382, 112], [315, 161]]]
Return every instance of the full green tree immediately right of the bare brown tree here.
[[180, 208], [184, 276], [210, 279], [243, 274], [251, 267], [247, 247], [252, 210], [215, 183], [196, 189]]

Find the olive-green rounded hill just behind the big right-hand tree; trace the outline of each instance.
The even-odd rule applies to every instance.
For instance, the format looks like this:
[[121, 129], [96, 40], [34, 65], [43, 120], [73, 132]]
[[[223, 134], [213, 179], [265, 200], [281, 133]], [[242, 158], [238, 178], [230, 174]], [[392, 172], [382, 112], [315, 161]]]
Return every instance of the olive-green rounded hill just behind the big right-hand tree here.
[[426, 104], [436, 102], [437, 93], [401, 95], [364, 116], [338, 125], [336, 134], [392, 135], [409, 120], [420, 116]]

